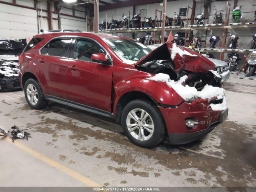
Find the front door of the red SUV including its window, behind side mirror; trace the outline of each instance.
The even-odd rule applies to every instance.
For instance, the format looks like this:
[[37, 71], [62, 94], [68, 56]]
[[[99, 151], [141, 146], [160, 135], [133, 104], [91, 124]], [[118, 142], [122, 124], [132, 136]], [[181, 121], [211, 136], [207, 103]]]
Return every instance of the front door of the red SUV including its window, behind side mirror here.
[[94, 53], [106, 50], [95, 40], [76, 38], [68, 62], [69, 100], [111, 112], [113, 66], [92, 62]]

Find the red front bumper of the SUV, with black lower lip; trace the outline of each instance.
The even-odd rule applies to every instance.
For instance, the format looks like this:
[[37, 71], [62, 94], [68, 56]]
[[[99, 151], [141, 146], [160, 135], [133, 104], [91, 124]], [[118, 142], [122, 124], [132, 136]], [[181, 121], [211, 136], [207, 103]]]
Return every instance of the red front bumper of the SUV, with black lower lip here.
[[[185, 144], [197, 140], [208, 134], [223, 122], [226, 116], [223, 112], [213, 111], [208, 100], [198, 99], [192, 103], [184, 102], [176, 108], [166, 108], [158, 106], [161, 111], [171, 144]], [[193, 118], [202, 124], [195, 124], [193, 128], [186, 126], [185, 120]]]

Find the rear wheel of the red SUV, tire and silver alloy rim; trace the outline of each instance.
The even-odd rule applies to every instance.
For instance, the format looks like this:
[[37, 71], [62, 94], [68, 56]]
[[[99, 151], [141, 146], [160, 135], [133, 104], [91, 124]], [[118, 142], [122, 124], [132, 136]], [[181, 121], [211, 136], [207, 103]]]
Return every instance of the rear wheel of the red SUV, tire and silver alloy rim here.
[[[34, 94], [29, 94], [29, 90], [31, 93], [33, 92], [32, 89], [34, 90]], [[44, 109], [48, 104], [48, 100], [44, 98], [44, 93], [39, 82], [35, 79], [28, 79], [25, 82], [24, 93], [26, 101], [32, 109]], [[33, 95], [37, 98], [37, 101]]]

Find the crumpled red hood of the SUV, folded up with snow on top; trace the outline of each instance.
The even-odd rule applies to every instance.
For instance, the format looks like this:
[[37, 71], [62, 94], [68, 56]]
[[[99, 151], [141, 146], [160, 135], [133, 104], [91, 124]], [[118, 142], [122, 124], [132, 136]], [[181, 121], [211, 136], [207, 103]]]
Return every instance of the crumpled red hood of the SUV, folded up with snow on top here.
[[188, 70], [191, 72], [206, 72], [209, 70], [215, 70], [213, 62], [202, 56], [201, 54], [194, 52], [193, 50], [178, 46], [172, 43], [164, 43], [138, 62], [135, 66], [142, 65], [146, 62], [153, 60], [172, 60], [175, 64], [175, 70]]

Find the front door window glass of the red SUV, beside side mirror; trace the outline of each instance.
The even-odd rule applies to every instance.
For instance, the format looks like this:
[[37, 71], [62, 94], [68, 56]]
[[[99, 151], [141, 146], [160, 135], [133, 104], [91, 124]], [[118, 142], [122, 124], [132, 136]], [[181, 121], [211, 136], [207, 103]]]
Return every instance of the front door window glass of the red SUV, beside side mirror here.
[[105, 51], [93, 40], [85, 38], [76, 38], [76, 42], [73, 48], [72, 58], [91, 62], [92, 54], [105, 53]]

